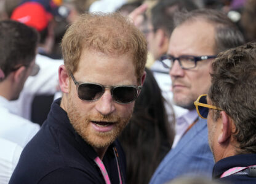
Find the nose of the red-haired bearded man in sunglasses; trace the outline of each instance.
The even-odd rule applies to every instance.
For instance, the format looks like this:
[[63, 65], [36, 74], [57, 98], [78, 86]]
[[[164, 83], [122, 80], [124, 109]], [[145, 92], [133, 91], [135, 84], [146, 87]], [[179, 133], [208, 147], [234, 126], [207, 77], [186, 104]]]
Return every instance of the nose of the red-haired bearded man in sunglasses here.
[[114, 101], [111, 96], [110, 90], [105, 90], [104, 94], [100, 99], [96, 101], [95, 108], [103, 116], [110, 115], [116, 109], [114, 106]]

